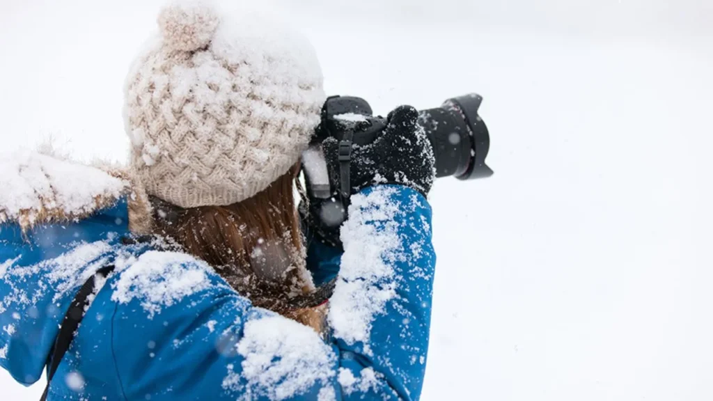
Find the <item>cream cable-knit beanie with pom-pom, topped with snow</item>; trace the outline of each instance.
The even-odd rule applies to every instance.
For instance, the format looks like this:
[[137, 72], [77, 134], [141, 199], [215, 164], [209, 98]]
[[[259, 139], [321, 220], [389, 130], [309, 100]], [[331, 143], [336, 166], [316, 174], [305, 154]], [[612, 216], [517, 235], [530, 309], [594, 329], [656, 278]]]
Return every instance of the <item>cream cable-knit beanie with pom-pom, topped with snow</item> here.
[[317, 56], [250, 2], [173, 1], [160, 11], [160, 34], [125, 85], [130, 163], [149, 195], [183, 208], [230, 205], [307, 148], [326, 97]]

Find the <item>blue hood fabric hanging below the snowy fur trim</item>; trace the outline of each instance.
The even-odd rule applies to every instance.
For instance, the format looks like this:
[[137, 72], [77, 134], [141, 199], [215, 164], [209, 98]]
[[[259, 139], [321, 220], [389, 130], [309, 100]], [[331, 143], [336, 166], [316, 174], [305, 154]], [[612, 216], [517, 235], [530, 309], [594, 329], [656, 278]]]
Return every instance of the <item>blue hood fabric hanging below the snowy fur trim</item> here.
[[0, 367], [15, 380], [39, 380], [71, 300], [111, 264], [127, 233], [125, 199], [83, 220], [39, 223], [27, 232], [0, 224]]

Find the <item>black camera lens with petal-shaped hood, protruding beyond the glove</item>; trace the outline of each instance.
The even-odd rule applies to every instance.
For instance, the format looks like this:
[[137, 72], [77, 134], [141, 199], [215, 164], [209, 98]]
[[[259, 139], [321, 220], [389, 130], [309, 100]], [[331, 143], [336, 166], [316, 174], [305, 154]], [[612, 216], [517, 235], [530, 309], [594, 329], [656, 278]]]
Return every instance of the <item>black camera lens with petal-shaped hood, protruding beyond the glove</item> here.
[[471, 93], [419, 112], [419, 123], [434, 148], [437, 177], [470, 180], [493, 175], [485, 163], [490, 148], [488, 128], [478, 116], [482, 101], [481, 96]]

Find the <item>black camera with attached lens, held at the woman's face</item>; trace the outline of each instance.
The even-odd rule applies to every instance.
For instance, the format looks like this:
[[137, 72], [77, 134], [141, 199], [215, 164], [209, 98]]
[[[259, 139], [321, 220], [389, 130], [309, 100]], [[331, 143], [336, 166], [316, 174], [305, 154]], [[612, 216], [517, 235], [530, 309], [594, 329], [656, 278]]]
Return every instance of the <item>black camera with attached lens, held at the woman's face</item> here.
[[[448, 99], [441, 107], [419, 111], [419, 125], [424, 128], [436, 158], [436, 177], [471, 180], [493, 175], [485, 160], [490, 136], [478, 115], [482, 101], [481, 96], [471, 93]], [[347, 218], [352, 146], [373, 143], [387, 123], [388, 118], [374, 116], [371, 106], [362, 98], [332, 96], [324, 103], [322, 123], [302, 157], [307, 196], [311, 203], [319, 203], [310, 208], [319, 208], [316, 210], [319, 226], [324, 230], [338, 229]], [[339, 183], [330, 181], [320, 146], [330, 136], [339, 141]]]

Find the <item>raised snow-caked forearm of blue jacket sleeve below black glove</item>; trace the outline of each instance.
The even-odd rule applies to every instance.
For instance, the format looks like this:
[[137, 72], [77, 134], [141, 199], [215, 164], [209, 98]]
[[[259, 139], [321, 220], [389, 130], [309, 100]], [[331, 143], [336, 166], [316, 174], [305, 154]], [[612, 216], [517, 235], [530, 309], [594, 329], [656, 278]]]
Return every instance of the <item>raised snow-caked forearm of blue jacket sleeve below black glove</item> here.
[[418, 400], [436, 265], [431, 208], [410, 188], [367, 188], [352, 199], [342, 243], [329, 311], [342, 394]]

